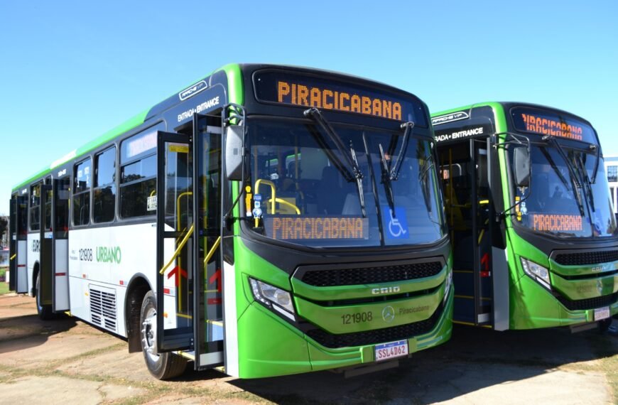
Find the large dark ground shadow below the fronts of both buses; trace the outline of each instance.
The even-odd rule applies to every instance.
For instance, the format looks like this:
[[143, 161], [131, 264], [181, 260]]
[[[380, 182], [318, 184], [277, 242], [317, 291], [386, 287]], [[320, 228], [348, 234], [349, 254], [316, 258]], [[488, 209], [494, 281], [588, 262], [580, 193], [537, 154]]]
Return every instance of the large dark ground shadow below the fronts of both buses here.
[[[359, 377], [315, 372], [236, 379], [230, 384], [278, 404], [431, 404], [498, 384], [547, 376], [558, 372], [560, 366], [600, 360], [618, 352], [618, 338], [597, 331], [573, 335], [558, 328], [501, 333], [455, 325], [453, 336], [445, 345], [401, 361], [397, 368]], [[555, 378], [560, 377], [556, 374]]]

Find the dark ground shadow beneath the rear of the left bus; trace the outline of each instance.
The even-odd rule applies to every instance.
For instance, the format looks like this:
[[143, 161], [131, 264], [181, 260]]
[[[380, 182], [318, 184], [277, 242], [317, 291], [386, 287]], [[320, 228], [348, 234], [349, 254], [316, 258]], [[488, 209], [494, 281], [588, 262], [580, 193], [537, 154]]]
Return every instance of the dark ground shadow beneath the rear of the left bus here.
[[0, 319], [0, 354], [43, 345], [58, 333], [77, 325], [76, 318], [58, 315], [54, 320], [40, 320], [38, 315], [20, 315]]

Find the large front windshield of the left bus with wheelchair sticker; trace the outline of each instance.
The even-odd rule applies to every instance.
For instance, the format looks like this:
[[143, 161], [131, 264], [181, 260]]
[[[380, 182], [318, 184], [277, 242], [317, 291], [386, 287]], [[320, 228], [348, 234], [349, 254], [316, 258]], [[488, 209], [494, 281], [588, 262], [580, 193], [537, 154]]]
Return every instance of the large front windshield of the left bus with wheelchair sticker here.
[[424, 244], [443, 237], [429, 139], [410, 137], [391, 180], [382, 167], [394, 167], [403, 131], [333, 128], [345, 150], [313, 122], [249, 121], [253, 202], [246, 199], [246, 215], [254, 232], [310, 247]]

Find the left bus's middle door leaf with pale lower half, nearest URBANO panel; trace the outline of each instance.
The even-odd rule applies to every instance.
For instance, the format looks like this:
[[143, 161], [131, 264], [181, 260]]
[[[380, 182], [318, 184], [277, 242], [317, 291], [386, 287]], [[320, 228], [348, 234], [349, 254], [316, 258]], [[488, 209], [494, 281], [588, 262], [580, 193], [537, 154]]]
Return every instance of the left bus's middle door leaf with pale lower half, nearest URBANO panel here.
[[69, 310], [69, 194], [69, 176], [53, 180], [51, 205], [53, 312]]

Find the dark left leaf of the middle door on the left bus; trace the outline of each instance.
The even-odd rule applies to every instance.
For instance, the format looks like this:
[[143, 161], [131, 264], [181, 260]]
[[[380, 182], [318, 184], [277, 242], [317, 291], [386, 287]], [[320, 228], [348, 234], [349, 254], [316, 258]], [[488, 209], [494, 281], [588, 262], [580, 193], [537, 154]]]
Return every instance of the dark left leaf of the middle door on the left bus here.
[[39, 278], [40, 286], [36, 292], [40, 295], [40, 303], [44, 306], [52, 305], [53, 283], [53, 232], [51, 229], [53, 202], [53, 187], [51, 178], [45, 179], [40, 185], [40, 244], [39, 244]]

